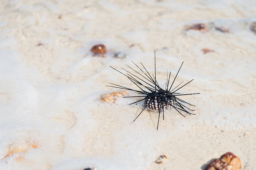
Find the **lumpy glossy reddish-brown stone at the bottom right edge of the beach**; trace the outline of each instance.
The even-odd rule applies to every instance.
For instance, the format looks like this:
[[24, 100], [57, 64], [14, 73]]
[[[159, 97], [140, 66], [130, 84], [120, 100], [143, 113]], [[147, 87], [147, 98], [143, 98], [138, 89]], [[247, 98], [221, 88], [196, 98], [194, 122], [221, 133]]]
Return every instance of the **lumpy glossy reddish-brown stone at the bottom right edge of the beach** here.
[[210, 162], [205, 170], [238, 170], [241, 168], [241, 161], [234, 153], [227, 152], [220, 157]]

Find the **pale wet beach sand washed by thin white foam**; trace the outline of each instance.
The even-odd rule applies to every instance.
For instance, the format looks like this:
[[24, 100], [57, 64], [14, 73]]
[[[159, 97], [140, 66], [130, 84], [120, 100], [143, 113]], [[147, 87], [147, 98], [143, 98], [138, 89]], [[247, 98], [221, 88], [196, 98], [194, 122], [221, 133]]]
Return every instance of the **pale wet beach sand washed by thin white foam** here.
[[[254, 1], [2, 0], [0, 11], [0, 169], [196, 170], [228, 151], [255, 169]], [[194, 23], [230, 33], [186, 32]], [[98, 43], [105, 58], [90, 53]], [[176, 85], [195, 79], [180, 92], [201, 93], [182, 97], [196, 115], [168, 110], [158, 131], [154, 112], [132, 122], [136, 99], [99, 102], [116, 90], [109, 82], [136, 89], [109, 65], [141, 61], [153, 73], [154, 50], [161, 85], [184, 61]]]

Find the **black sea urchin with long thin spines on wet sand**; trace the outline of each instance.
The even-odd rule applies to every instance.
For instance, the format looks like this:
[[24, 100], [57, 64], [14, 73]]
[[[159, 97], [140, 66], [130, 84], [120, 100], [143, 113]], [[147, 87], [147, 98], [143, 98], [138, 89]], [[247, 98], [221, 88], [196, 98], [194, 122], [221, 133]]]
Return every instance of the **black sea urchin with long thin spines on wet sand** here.
[[[135, 64], [135, 63], [133, 62], [133, 64]], [[188, 111], [188, 110], [191, 110], [191, 111], [194, 111], [194, 110], [189, 109], [187, 106], [185, 106], [186, 104], [191, 105], [191, 106], [194, 106], [194, 105], [179, 99], [177, 96], [196, 95], [196, 94], [200, 94], [200, 93], [190, 93], [190, 94], [176, 93], [176, 91], [178, 91], [179, 89], [181, 89], [182, 87], [184, 87], [185, 85], [187, 85], [188, 83], [193, 81], [194, 79], [187, 82], [186, 84], [182, 85], [181, 87], [179, 87], [183, 83], [183, 81], [182, 81], [178, 86], [176, 86], [175, 88], [172, 89], [172, 85], [173, 85], [180, 69], [179, 69], [178, 73], [176, 74], [174, 80], [172, 81], [172, 85], [171, 85], [170, 88], [169, 88], [169, 81], [170, 81], [171, 72], [169, 74], [169, 78], [168, 78], [168, 72], [167, 72], [166, 86], [165, 86], [165, 89], [162, 89], [159, 86], [158, 82], [156, 81], [156, 52], [155, 52], [155, 76], [153, 74], [151, 76], [148, 73], [147, 69], [143, 66], [143, 64], [142, 63], [140, 63], [140, 64], [145, 69], [145, 72], [136, 64], [135, 64], [135, 66], [140, 69], [141, 73], [134, 70], [132, 67], [126, 65], [135, 72], [134, 74], [131, 73], [130, 71], [127, 71], [124, 68], [122, 68], [124, 71], [126, 71], [126, 74], [124, 74], [124, 73], [122, 73], [122, 72], [118, 71], [117, 69], [110, 66], [111, 68], [115, 69], [119, 73], [125, 75], [130, 81], [132, 81], [139, 88], [139, 90], [126, 88], [126, 87], [123, 87], [123, 86], [120, 86], [120, 85], [117, 85], [117, 84], [113, 84], [113, 83], [110, 83], [110, 84], [112, 84], [114, 86], [109, 86], [109, 87], [131, 90], [131, 91], [137, 92], [138, 94], [142, 94], [143, 96], [128, 96], [128, 97], [144, 97], [143, 99], [141, 99], [137, 102], [130, 103], [130, 104], [134, 104], [134, 103], [144, 101], [144, 107], [143, 107], [143, 110], [140, 112], [140, 114], [146, 108], [149, 109], [149, 110], [159, 111], [157, 129], [158, 129], [158, 124], [159, 124], [160, 113], [161, 113], [161, 111], [163, 111], [163, 120], [164, 120], [164, 110], [165, 109], [174, 108], [182, 116], [184, 116], [184, 115], [181, 113], [181, 111], [185, 112], [185, 113], [188, 113], [189, 115], [191, 115], [191, 114], [195, 115], [195, 114], [190, 113]], [[182, 62], [182, 64], [183, 64], [183, 62]], [[182, 66], [182, 64], [181, 64], [181, 66]], [[180, 68], [181, 68], [181, 66], [180, 66]], [[135, 75], [135, 74], [137, 74], [137, 75]], [[146, 88], [147, 91], [143, 90], [142, 88], [143, 89]], [[188, 109], [188, 110], [186, 110], [186, 109]], [[135, 121], [140, 116], [140, 114], [133, 121]]]

